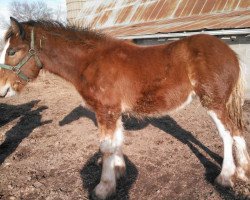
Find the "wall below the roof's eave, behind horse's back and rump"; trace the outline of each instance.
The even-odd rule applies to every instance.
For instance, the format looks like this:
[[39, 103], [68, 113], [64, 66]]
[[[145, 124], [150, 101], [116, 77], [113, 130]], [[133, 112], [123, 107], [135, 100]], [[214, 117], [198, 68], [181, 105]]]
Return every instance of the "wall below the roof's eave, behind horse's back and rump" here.
[[[160, 39], [136, 39], [134, 43], [139, 45], [156, 45], [178, 40], [179, 38], [160, 38]], [[226, 42], [239, 56], [239, 59], [243, 65], [245, 85], [246, 85], [246, 99], [250, 100], [250, 37], [237, 36], [229, 37], [224, 36], [221, 38]]]

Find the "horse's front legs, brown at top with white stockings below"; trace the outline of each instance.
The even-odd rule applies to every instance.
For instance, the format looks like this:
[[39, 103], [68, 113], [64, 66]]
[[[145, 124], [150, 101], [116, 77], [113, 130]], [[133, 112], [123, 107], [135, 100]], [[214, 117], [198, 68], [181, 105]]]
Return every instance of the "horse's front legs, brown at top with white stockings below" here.
[[93, 197], [106, 199], [115, 193], [116, 180], [125, 173], [122, 154], [123, 126], [121, 116], [113, 112], [101, 115], [97, 113], [100, 129], [100, 151], [102, 158], [101, 181], [94, 189]]

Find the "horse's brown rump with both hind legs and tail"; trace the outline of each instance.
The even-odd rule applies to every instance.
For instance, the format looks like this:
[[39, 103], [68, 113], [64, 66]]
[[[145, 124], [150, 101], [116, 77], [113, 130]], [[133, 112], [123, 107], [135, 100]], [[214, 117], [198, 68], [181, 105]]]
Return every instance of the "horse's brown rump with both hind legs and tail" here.
[[[242, 135], [243, 88], [235, 52], [216, 37], [191, 36], [186, 40], [189, 81], [215, 122], [224, 144], [222, 171], [216, 181], [233, 186], [236, 174], [248, 180], [250, 160]], [[233, 158], [236, 145], [237, 168]], [[237, 172], [237, 173], [235, 173]]]

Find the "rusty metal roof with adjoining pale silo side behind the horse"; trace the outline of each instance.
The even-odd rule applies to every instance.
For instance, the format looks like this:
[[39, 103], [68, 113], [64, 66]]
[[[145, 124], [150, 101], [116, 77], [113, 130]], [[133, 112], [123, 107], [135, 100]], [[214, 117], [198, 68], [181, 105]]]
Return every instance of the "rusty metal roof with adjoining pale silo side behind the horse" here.
[[250, 27], [250, 0], [66, 0], [68, 21], [114, 36]]

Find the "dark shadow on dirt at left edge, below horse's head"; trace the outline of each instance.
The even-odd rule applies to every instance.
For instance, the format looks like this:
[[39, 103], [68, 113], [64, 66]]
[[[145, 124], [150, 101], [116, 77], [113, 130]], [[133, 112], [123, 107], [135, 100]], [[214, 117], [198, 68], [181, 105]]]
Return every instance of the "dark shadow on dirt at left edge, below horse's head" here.
[[0, 127], [20, 118], [16, 125], [5, 133], [5, 140], [0, 145], [0, 165], [35, 128], [52, 122], [41, 121], [40, 113], [48, 107], [41, 106], [34, 109], [38, 102], [31, 101], [22, 105], [0, 104]]

